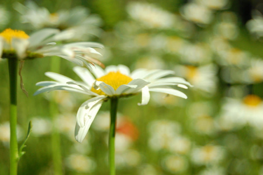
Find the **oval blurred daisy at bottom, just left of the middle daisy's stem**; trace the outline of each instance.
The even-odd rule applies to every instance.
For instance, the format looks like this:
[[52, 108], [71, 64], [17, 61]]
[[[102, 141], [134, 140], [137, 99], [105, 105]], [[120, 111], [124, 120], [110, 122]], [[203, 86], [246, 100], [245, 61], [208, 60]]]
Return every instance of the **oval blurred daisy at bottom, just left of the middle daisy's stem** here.
[[70, 170], [80, 173], [92, 173], [97, 167], [92, 158], [81, 154], [69, 155], [65, 160], [65, 164]]

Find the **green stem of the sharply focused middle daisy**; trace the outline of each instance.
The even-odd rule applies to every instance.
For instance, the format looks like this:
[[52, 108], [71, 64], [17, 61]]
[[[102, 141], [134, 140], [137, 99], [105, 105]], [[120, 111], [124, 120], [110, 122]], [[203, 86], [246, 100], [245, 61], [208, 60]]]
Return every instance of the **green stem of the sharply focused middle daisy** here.
[[118, 98], [110, 99], [109, 166], [110, 175], [115, 175], [115, 128]]

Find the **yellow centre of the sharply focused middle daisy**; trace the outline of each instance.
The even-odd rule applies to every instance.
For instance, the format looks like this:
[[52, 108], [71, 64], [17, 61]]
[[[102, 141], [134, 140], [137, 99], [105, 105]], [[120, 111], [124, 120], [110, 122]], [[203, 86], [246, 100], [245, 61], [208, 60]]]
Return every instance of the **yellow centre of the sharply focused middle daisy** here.
[[[104, 75], [100, 78], [97, 78], [96, 80], [102, 81], [102, 82], [112, 86], [113, 89], [116, 91], [116, 89], [118, 89], [118, 87], [120, 87], [122, 84], [128, 84], [132, 80], [132, 78], [128, 77], [127, 75], [124, 75], [120, 72], [109, 72], [107, 75]], [[101, 91], [101, 89], [96, 90], [92, 87], [91, 91], [95, 92], [99, 95], [105, 95], [105, 93], [103, 91]]]

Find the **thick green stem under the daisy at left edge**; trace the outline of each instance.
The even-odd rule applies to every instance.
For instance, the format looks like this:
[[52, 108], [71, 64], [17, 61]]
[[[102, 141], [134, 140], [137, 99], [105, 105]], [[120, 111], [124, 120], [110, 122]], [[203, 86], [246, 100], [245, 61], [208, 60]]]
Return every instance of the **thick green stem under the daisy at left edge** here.
[[17, 125], [17, 65], [15, 59], [8, 59], [10, 84], [10, 175], [17, 175], [18, 145], [16, 137]]

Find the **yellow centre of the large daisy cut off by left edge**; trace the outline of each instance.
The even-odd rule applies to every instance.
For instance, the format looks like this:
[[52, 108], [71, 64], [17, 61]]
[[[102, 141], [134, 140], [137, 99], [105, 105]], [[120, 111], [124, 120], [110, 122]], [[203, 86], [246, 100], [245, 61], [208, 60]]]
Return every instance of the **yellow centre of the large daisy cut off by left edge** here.
[[24, 31], [12, 30], [10, 28], [1, 32], [0, 36], [3, 37], [9, 44], [11, 44], [13, 38], [21, 38], [21, 39], [29, 38], [29, 36]]

